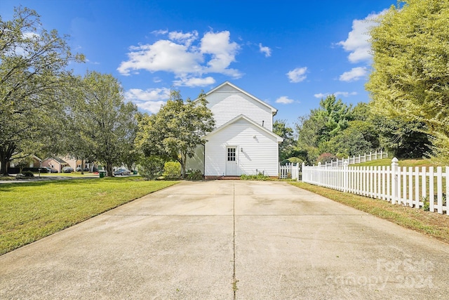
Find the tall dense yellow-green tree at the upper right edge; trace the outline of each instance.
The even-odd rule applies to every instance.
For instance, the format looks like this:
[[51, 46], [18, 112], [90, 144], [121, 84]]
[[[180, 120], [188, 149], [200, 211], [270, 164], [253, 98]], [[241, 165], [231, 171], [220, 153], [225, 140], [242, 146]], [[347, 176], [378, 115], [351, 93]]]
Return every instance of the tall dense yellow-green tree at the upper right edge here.
[[376, 110], [424, 123], [449, 162], [449, 1], [406, 0], [370, 30]]

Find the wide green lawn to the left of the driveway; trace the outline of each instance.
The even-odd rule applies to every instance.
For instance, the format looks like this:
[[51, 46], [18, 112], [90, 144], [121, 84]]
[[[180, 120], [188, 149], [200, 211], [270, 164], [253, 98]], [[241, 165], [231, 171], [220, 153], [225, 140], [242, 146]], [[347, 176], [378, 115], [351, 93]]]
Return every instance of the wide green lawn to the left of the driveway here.
[[0, 184], [0, 255], [175, 183], [129, 177]]

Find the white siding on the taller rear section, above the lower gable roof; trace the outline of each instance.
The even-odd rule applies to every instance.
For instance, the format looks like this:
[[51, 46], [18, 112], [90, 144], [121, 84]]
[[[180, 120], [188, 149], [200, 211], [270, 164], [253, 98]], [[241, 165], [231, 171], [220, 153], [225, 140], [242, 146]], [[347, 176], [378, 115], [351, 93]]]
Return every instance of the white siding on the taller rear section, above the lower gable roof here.
[[270, 107], [250, 98], [245, 93], [234, 89], [232, 86], [222, 88], [210, 93], [206, 99], [208, 107], [213, 112], [215, 128], [222, 126], [239, 115], [245, 115], [254, 122], [273, 131], [273, 115]]

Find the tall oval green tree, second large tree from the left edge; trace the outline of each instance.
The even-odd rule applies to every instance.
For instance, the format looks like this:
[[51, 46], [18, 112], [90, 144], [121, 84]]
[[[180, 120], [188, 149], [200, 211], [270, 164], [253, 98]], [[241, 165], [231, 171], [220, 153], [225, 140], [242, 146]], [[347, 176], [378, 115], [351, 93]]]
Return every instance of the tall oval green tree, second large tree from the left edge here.
[[123, 163], [123, 155], [134, 143], [137, 107], [125, 103], [119, 81], [111, 74], [89, 72], [74, 89], [69, 112], [72, 120], [72, 150], [69, 153], [96, 160], [112, 167]]

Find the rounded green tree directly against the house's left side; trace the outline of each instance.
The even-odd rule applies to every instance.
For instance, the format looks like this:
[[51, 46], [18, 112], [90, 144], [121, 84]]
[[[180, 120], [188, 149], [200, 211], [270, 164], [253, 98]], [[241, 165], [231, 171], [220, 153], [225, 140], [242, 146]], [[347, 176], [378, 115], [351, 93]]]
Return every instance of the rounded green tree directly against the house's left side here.
[[140, 119], [137, 144], [147, 157], [158, 155], [180, 162], [185, 177], [187, 157], [193, 157], [204, 136], [213, 131], [215, 121], [206, 107], [206, 95], [198, 100], [182, 100], [179, 91], [170, 91], [170, 98], [158, 113]]

